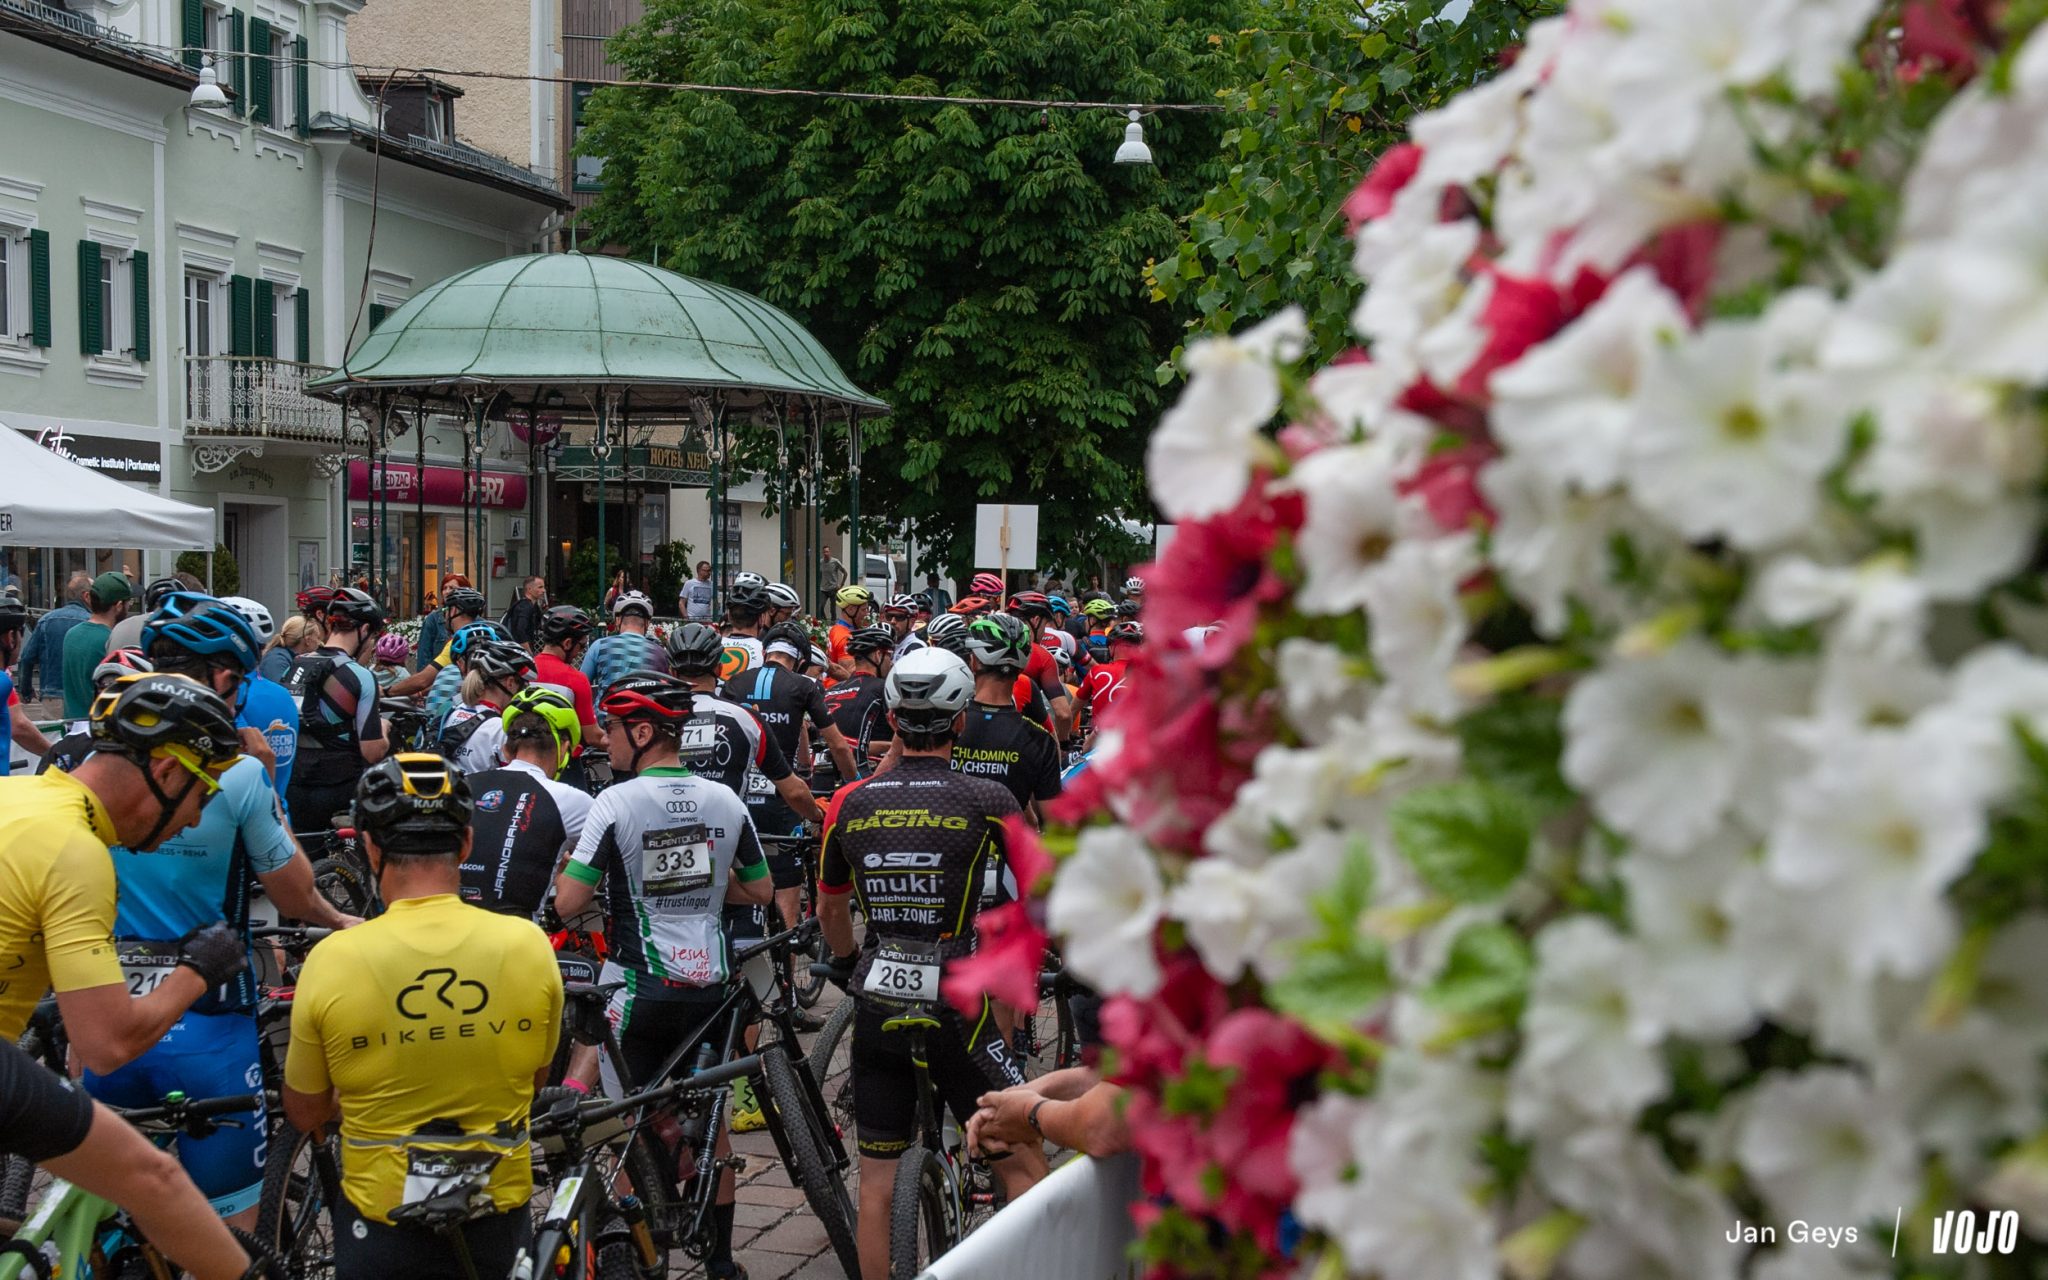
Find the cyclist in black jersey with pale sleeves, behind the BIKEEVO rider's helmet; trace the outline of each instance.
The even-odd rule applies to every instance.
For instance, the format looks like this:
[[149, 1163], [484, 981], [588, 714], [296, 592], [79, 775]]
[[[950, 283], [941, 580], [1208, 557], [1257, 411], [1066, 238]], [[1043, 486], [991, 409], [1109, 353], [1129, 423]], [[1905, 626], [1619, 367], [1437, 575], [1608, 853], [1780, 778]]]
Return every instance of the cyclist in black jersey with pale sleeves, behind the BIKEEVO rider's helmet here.
[[299, 762], [285, 803], [301, 831], [324, 831], [348, 809], [356, 778], [391, 750], [377, 715], [377, 676], [362, 657], [377, 643], [383, 610], [356, 588], [326, 606], [328, 641], [291, 664], [285, 688], [299, 702]]

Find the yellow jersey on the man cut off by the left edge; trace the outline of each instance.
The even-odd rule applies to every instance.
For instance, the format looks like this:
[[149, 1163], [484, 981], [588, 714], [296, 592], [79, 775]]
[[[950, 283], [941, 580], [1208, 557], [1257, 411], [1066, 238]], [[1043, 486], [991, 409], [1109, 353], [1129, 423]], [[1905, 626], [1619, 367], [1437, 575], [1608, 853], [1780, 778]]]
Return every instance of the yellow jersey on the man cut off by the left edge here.
[[66, 772], [0, 778], [0, 1038], [43, 991], [125, 981], [115, 956], [115, 823]]

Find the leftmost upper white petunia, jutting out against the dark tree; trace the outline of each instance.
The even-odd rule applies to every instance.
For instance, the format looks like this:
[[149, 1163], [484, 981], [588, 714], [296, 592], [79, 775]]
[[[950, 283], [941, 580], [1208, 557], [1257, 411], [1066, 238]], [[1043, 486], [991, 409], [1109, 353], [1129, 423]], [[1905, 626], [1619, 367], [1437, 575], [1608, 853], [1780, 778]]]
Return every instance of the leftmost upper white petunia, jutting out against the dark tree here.
[[1274, 362], [1300, 358], [1307, 338], [1300, 307], [1288, 307], [1243, 334], [1188, 346], [1188, 387], [1145, 451], [1145, 475], [1167, 518], [1217, 516], [1245, 496], [1260, 430], [1280, 412]]

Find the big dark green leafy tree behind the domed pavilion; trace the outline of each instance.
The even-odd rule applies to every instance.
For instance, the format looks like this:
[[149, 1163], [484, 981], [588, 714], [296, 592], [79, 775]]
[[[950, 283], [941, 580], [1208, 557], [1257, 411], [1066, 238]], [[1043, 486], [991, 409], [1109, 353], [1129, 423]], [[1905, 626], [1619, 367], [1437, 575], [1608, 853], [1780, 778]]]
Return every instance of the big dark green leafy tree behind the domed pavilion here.
[[[1239, 4], [653, 0], [610, 57], [670, 82], [1206, 102]], [[1157, 168], [1112, 164], [1106, 111], [608, 88], [586, 119], [592, 242], [788, 309], [893, 406], [864, 428], [864, 512], [954, 569], [977, 502], [1036, 502], [1065, 559], [1110, 551], [1102, 516], [1149, 512], [1151, 371], [1182, 317], [1147, 299], [1145, 262], [1214, 180], [1219, 115], [1147, 119]], [[770, 461], [754, 436], [739, 469]]]

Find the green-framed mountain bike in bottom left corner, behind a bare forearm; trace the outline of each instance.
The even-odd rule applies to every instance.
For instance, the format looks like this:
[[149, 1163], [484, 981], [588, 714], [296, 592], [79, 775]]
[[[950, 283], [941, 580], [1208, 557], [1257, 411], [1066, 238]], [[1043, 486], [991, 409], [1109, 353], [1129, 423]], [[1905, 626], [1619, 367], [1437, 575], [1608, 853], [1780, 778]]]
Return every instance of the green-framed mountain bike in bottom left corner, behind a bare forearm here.
[[[254, 1112], [260, 1102], [254, 1094], [190, 1100], [172, 1092], [164, 1096], [162, 1106], [119, 1114], [160, 1141], [178, 1135], [203, 1139], [217, 1128], [238, 1126], [238, 1120], [225, 1116]], [[262, 1245], [242, 1231], [233, 1231], [233, 1237], [252, 1260], [262, 1264], [266, 1276], [283, 1280], [283, 1270]], [[10, 1239], [0, 1243], [0, 1280], [20, 1280], [23, 1276], [39, 1280], [57, 1276], [174, 1280], [180, 1274], [135, 1231], [127, 1210], [61, 1178], [51, 1180], [29, 1219]]]

